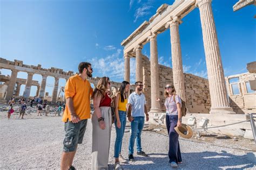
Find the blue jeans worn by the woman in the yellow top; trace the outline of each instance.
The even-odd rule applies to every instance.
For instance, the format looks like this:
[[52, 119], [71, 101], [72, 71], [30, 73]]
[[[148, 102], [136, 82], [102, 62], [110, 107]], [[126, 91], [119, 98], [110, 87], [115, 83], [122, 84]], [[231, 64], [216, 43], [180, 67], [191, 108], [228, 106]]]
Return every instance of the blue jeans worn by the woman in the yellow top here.
[[124, 136], [124, 130], [126, 125], [126, 112], [118, 110], [119, 119], [121, 122], [121, 128], [117, 128], [117, 120], [114, 122], [114, 125], [116, 126], [116, 142], [114, 143], [114, 158], [119, 157], [119, 153], [121, 153], [122, 148], [122, 140]]

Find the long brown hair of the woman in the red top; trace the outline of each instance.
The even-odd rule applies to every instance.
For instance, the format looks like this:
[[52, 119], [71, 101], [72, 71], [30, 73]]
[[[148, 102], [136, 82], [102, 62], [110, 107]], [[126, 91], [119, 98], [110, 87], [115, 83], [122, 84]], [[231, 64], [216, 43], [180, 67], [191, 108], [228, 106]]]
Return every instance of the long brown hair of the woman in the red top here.
[[107, 91], [107, 83], [109, 82], [109, 77], [102, 77], [99, 79], [96, 88], [93, 90], [92, 99], [94, 97], [104, 97]]

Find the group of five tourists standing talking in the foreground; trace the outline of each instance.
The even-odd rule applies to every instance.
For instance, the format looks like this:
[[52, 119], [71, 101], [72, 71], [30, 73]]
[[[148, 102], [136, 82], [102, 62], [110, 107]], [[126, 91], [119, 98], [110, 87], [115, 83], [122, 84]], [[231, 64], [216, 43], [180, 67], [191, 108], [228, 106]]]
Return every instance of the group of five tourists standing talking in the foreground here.
[[[91, 169], [108, 169], [111, 127], [116, 127], [114, 144], [114, 168], [123, 169], [120, 162], [126, 162], [121, 151], [126, 125], [126, 117], [131, 122], [129, 139], [129, 161], [134, 161], [134, 142], [137, 138], [137, 155], [147, 157], [142, 149], [142, 130], [144, 122], [149, 121], [147, 113], [143, 82], [135, 83], [135, 91], [129, 95], [130, 83], [123, 81], [118, 93], [111, 95], [109, 77], [100, 78], [93, 90], [86, 77], [92, 77], [92, 66], [89, 62], [81, 62], [79, 74], [71, 76], [66, 82], [66, 109], [62, 121], [65, 122], [65, 137], [60, 169], [76, 169], [72, 166], [77, 145], [82, 144], [86, 130], [87, 119], [92, 119], [92, 164]], [[170, 84], [165, 87], [166, 126], [169, 132], [169, 162], [172, 167], [181, 164], [181, 153], [178, 133], [174, 130], [181, 126], [181, 99]], [[90, 114], [90, 98], [95, 111]], [[159, 98], [155, 100], [160, 101]], [[146, 118], [145, 118], [146, 117]]]

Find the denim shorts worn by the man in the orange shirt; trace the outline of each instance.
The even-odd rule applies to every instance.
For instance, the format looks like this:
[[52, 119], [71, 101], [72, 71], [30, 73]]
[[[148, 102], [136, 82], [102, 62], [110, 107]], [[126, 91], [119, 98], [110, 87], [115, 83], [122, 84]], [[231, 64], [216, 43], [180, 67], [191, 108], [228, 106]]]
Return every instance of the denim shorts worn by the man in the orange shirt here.
[[63, 152], [73, 152], [76, 150], [77, 144], [82, 144], [84, 132], [86, 130], [87, 119], [72, 123], [65, 122], [65, 138], [63, 141]]

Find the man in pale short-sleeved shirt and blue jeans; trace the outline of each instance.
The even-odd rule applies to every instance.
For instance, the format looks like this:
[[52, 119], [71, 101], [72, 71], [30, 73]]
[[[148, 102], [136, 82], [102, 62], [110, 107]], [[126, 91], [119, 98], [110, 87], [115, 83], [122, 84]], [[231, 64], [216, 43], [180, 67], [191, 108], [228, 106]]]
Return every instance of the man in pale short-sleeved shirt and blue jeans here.
[[[136, 89], [129, 96], [128, 104], [128, 120], [131, 122], [131, 137], [129, 143], [129, 160], [134, 161], [133, 147], [134, 141], [137, 137], [137, 154], [147, 157], [147, 154], [142, 151], [142, 130], [144, 127], [145, 115], [146, 121], [149, 121], [149, 114], [147, 114], [146, 99], [142, 93], [143, 83], [140, 81], [135, 82]], [[145, 114], [145, 115], [144, 115]]]

